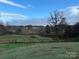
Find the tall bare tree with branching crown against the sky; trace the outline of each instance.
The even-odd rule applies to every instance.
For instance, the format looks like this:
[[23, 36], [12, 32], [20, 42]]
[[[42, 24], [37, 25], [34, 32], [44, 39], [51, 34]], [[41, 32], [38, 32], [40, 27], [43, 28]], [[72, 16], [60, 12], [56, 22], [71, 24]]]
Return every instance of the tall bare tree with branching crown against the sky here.
[[[53, 26], [53, 30], [58, 35], [59, 27], [61, 28], [62, 25], [66, 25], [66, 17], [64, 13], [61, 11], [55, 11], [53, 14], [50, 13], [50, 19], [48, 20], [49, 24]], [[60, 25], [60, 26], [59, 26]]]

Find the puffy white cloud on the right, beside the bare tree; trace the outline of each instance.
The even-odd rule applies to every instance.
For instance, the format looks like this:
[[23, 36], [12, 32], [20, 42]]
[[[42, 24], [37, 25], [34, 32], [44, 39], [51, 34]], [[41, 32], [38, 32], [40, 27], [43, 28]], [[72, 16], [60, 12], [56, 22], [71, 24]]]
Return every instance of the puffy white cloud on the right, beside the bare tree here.
[[60, 9], [60, 11], [64, 11], [69, 24], [75, 24], [79, 21], [79, 6], [69, 6], [67, 8]]

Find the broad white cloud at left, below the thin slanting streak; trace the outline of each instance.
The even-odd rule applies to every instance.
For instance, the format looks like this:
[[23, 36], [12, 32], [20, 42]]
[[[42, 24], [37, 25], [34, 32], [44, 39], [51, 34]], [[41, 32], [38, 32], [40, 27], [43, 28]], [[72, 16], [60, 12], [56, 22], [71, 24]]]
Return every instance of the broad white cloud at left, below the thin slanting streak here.
[[0, 12], [0, 22], [3, 22], [3, 24], [5, 25], [6, 22], [10, 23], [13, 21], [13, 23], [17, 23], [16, 21], [26, 21], [26, 20], [28, 20], [28, 17], [21, 14]]

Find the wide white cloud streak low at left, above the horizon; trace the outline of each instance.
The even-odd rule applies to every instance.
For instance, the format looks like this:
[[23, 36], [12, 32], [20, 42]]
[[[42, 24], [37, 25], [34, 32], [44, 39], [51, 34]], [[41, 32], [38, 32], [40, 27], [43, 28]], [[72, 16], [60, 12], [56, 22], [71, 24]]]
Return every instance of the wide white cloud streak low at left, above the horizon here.
[[0, 12], [0, 20], [10, 21], [10, 20], [26, 20], [28, 17], [21, 14], [5, 13]]

